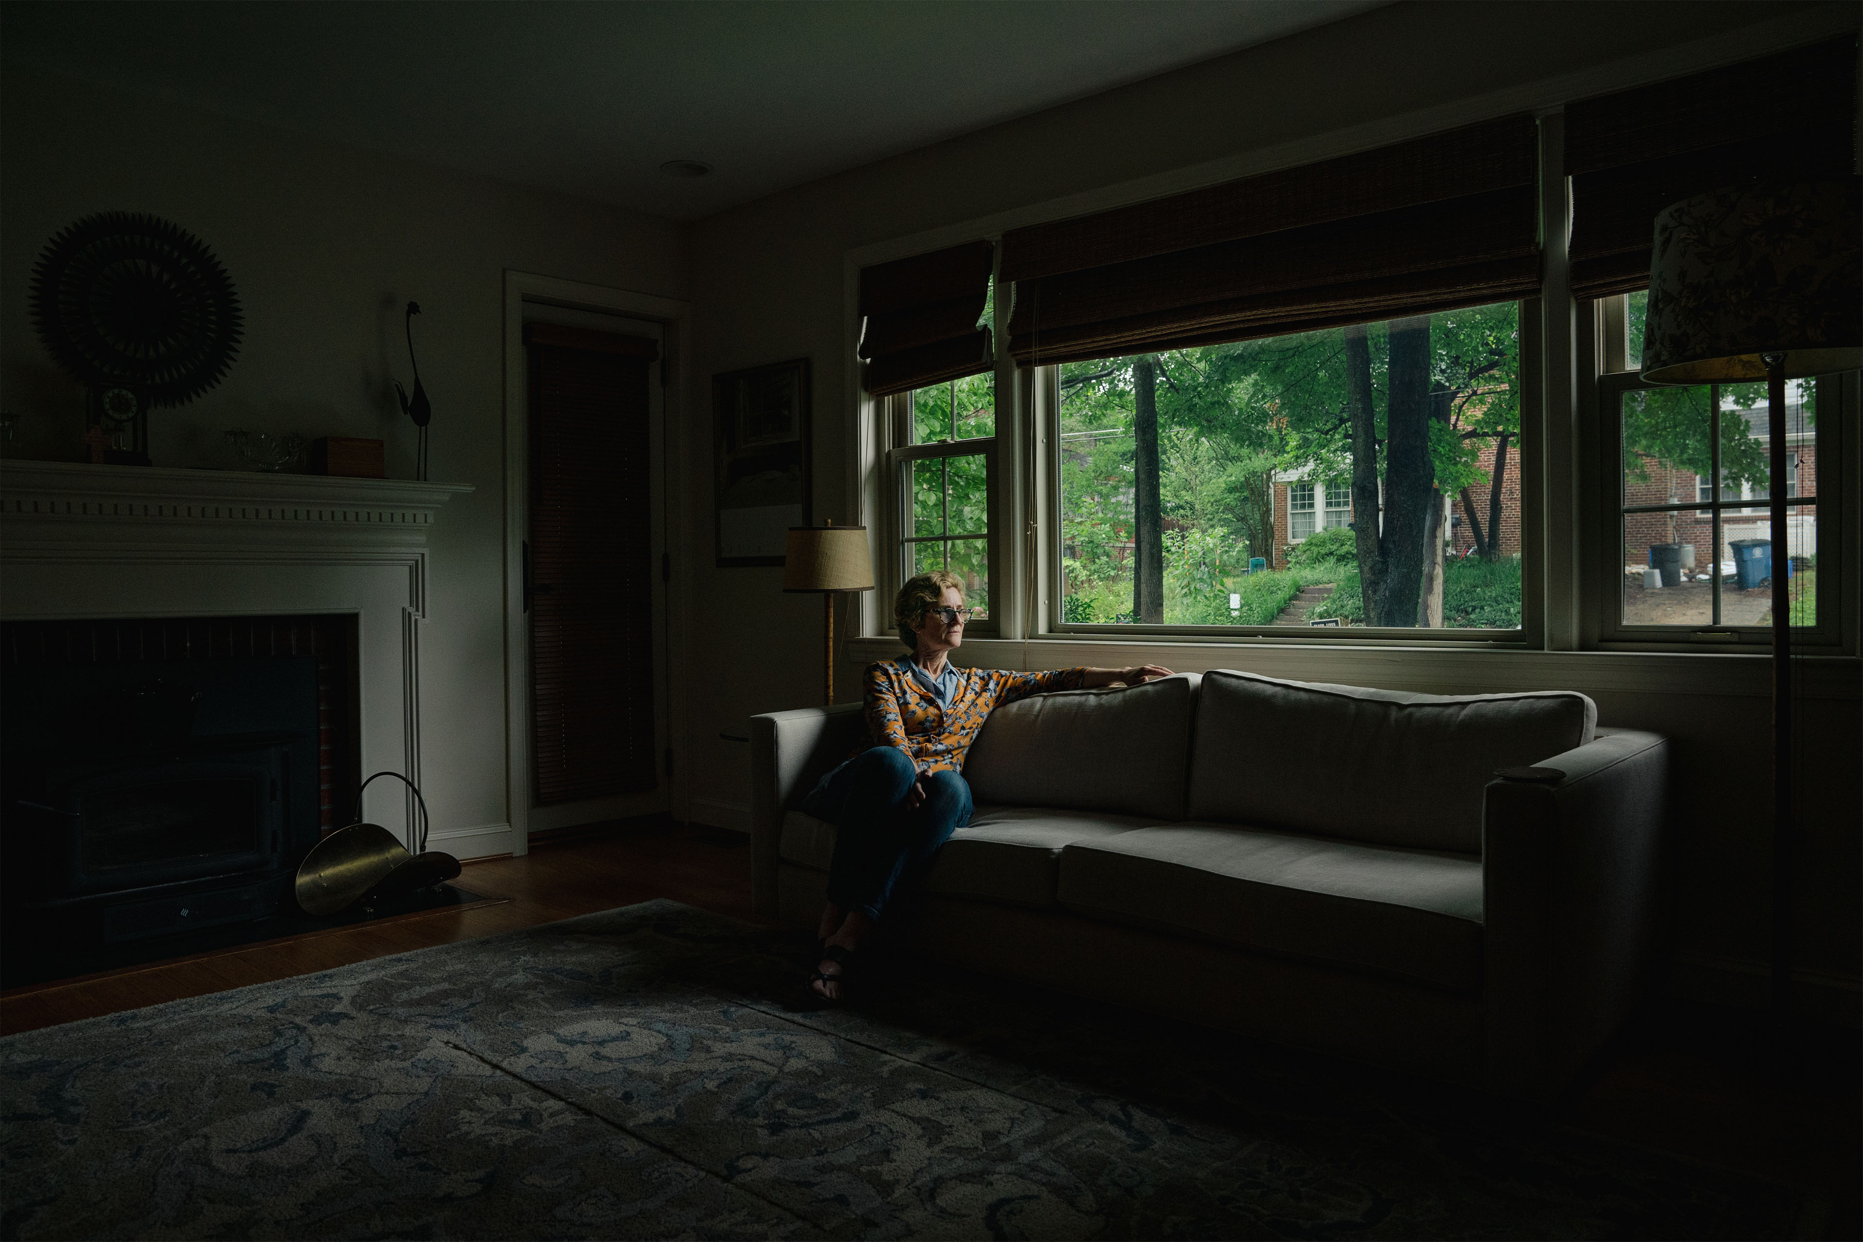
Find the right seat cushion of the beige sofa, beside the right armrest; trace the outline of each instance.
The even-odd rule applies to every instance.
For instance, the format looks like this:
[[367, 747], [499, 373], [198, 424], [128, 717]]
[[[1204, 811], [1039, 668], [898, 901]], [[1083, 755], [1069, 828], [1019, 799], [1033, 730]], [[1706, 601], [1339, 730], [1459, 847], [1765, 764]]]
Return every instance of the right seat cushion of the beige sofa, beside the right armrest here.
[[1481, 985], [1481, 860], [1228, 823], [1069, 844], [1060, 903], [1092, 918]]

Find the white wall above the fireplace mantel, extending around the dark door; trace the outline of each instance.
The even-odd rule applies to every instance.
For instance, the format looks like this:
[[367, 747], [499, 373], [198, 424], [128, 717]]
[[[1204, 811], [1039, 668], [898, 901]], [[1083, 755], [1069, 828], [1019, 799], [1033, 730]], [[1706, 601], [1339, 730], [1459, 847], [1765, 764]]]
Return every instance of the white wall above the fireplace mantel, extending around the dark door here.
[[173, 220], [220, 257], [246, 315], [227, 380], [158, 410], [158, 466], [233, 466], [229, 426], [389, 443], [414, 473], [402, 305], [434, 402], [430, 477], [469, 482], [432, 536], [421, 637], [423, 773], [434, 827], [507, 823], [503, 272], [684, 298], [680, 225], [395, 156], [335, 147], [155, 99], [9, 71], [0, 86], [0, 400], [15, 456], [75, 460], [82, 391], [28, 320], [32, 264], [97, 210]]

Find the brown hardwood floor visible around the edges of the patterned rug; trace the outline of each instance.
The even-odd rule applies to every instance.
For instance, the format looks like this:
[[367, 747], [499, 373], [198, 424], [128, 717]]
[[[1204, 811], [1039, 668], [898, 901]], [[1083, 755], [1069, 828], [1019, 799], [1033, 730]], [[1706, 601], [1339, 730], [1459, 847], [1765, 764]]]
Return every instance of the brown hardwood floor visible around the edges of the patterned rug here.
[[[585, 830], [524, 858], [471, 862], [460, 884], [497, 905], [358, 924], [214, 955], [0, 994], [0, 1033], [497, 935], [652, 898], [755, 920], [747, 838], [699, 825]], [[1863, 1168], [1857, 1035], [1781, 1037], [1755, 1015], [1666, 1004], [1632, 1024], [1559, 1121], [1598, 1138], [1820, 1194], [1807, 1236], [1854, 1238]]]

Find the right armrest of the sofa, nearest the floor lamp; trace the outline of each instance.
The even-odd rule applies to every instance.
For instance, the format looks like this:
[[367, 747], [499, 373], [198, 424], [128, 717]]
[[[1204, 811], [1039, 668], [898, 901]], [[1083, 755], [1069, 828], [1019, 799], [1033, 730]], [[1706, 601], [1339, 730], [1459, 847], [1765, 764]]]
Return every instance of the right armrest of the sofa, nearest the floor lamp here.
[[1483, 819], [1487, 1078], [1548, 1100], [1617, 1030], [1649, 970], [1669, 743], [1600, 730], [1496, 780]]

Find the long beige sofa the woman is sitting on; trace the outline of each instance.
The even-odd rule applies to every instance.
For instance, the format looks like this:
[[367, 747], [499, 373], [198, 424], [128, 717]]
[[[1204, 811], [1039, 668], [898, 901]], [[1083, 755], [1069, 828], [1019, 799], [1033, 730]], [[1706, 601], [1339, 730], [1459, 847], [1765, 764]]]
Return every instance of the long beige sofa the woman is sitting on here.
[[[758, 912], [820, 912], [797, 808], [861, 737], [753, 717]], [[976, 970], [1548, 1099], [1649, 965], [1667, 743], [1584, 695], [1181, 674], [1000, 708], [965, 778], [902, 925]]]

